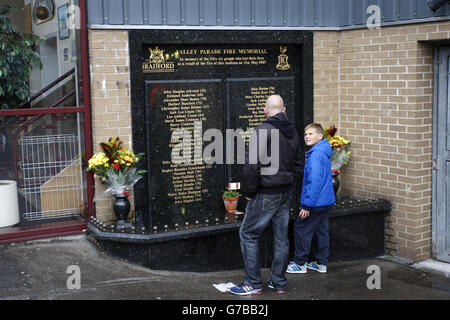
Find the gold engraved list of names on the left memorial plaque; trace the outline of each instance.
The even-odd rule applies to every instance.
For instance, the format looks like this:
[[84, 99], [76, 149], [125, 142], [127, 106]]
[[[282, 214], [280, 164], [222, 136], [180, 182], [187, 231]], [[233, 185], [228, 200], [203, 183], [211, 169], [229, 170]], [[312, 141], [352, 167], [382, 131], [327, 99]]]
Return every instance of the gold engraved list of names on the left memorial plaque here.
[[170, 137], [166, 148], [172, 152], [165, 154], [159, 167], [161, 181], [169, 182], [165, 186], [168, 200], [175, 205], [202, 202], [209, 193], [205, 171], [212, 165], [202, 161], [202, 131], [211, 125], [215, 88], [210, 82], [194, 82], [165, 85], [161, 90], [158, 111], [164, 126], [159, 134], [166, 140]]

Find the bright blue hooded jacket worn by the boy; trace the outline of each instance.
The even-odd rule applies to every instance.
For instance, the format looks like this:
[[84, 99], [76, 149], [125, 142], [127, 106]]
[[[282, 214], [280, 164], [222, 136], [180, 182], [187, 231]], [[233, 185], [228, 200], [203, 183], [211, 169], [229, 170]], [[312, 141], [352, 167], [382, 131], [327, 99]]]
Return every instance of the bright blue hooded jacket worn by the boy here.
[[326, 139], [319, 141], [306, 153], [302, 209], [311, 211], [312, 208], [329, 207], [336, 201], [331, 178], [332, 153], [330, 143]]

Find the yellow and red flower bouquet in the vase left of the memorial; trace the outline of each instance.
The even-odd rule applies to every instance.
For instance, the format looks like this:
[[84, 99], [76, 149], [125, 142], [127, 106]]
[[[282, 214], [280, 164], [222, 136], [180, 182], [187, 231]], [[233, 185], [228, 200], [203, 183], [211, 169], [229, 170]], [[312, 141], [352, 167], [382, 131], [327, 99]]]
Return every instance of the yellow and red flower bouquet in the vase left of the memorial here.
[[144, 153], [134, 154], [122, 147], [119, 137], [111, 137], [107, 142], [100, 143], [102, 152], [96, 153], [88, 161], [87, 171], [94, 173], [94, 179], [99, 179], [108, 189], [105, 194], [126, 194], [138, 182], [147, 170], [137, 170], [136, 166]]

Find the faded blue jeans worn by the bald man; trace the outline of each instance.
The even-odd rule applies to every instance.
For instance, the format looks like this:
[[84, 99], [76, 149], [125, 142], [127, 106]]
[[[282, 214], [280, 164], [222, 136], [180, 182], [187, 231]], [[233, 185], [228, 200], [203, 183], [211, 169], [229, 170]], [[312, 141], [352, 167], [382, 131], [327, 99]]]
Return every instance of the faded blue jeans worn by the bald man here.
[[283, 289], [287, 279], [285, 271], [289, 259], [289, 199], [290, 192], [258, 193], [247, 203], [244, 221], [239, 230], [242, 257], [245, 264], [244, 283], [261, 288], [261, 262], [258, 240], [272, 222], [274, 256], [271, 280], [275, 288]]

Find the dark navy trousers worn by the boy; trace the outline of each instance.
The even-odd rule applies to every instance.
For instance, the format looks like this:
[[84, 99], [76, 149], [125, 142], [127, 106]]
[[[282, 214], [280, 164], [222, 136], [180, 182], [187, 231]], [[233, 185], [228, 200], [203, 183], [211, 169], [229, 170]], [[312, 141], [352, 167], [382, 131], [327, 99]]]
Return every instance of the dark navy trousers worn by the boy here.
[[316, 235], [317, 252], [316, 260], [319, 264], [328, 265], [330, 254], [329, 218], [328, 212], [332, 207], [324, 210], [311, 209], [305, 219], [297, 219], [294, 222], [294, 262], [303, 265], [308, 262], [311, 242]]

